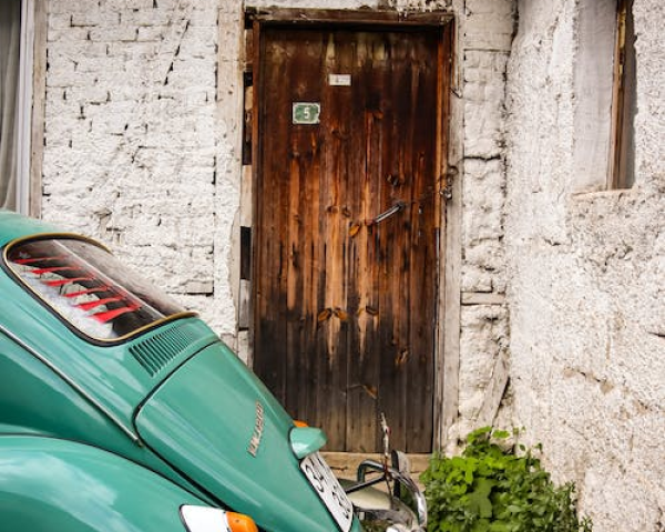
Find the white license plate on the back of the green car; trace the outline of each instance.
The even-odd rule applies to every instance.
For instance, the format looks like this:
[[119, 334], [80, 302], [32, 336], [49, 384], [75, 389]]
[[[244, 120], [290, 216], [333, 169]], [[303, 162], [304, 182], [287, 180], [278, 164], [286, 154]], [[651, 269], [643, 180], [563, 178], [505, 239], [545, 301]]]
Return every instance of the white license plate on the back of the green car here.
[[318, 452], [315, 452], [303, 459], [300, 469], [314, 487], [314, 491], [320, 497], [335, 521], [337, 521], [339, 529], [342, 532], [348, 532], [354, 521], [354, 505], [328, 464]]

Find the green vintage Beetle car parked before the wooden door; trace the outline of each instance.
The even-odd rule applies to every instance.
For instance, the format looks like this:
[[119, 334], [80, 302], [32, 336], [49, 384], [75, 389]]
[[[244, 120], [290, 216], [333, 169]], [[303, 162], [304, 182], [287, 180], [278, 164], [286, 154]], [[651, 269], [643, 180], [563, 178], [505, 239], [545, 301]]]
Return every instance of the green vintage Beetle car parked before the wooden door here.
[[325, 434], [101, 244], [0, 211], [0, 531], [424, 529], [403, 456], [342, 488]]

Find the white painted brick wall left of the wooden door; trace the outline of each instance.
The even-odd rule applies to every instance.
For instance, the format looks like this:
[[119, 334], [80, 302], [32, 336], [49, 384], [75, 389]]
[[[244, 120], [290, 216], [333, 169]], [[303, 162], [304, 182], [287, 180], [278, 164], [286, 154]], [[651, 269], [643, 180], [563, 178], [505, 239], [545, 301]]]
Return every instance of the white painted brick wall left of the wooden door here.
[[[221, 112], [235, 88], [217, 85], [218, 8], [48, 2], [43, 216], [109, 243], [233, 335], [238, 114]], [[238, 45], [225, 48], [237, 65]]]

